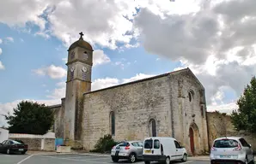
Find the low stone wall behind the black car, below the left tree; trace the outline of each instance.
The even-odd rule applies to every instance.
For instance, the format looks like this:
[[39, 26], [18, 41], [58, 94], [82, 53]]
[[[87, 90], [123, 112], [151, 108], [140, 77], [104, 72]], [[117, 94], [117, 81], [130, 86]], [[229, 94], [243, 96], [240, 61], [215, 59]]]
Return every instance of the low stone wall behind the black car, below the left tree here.
[[45, 135], [10, 133], [9, 139], [21, 140], [28, 145], [28, 150], [55, 150], [55, 134], [52, 132]]

